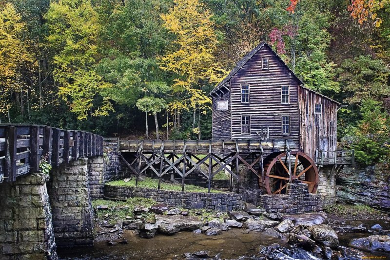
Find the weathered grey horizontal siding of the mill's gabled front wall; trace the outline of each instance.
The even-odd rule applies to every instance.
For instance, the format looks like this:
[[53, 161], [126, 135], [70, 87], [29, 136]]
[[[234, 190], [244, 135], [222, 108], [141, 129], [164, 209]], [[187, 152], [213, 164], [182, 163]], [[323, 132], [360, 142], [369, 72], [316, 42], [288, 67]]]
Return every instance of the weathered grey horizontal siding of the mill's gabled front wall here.
[[[269, 59], [268, 70], [261, 68], [263, 57]], [[241, 84], [250, 85], [249, 104], [241, 103]], [[298, 84], [270, 47], [261, 48], [231, 79], [232, 139], [258, 139], [256, 132], [269, 126], [271, 139], [289, 138], [298, 144]], [[290, 104], [281, 103], [281, 86], [290, 86]], [[241, 133], [241, 115], [251, 116], [250, 133]], [[290, 116], [290, 135], [282, 135], [282, 116]]]

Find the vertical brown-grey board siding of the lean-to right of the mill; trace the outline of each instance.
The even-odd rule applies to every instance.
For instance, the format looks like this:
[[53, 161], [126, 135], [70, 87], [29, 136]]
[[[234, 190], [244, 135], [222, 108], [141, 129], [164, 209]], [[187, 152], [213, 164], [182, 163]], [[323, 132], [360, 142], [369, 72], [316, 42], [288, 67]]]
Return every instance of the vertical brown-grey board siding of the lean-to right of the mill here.
[[[337, 103], [306, 88], [299, 87], [301, 148], [313, 160], [320, 138], [329, 138], [329, 151], [337, 148]], [[322, 113], [314, 113], [314, 105], [322, 104]]]

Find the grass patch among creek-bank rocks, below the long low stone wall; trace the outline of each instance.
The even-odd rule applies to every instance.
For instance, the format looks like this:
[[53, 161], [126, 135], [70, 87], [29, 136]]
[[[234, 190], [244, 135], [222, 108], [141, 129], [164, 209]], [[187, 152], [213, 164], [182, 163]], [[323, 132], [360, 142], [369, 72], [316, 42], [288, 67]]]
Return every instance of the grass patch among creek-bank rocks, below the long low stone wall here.
[[[124, 220], [127, 216], [133, 216], [133, 210], [136, 206], [151, 207], [156, 204], [155, 200], [144, 198], [130, 198], [126, 201], [118, 200], [92, 200], [92, 206], [96, 209], [98, 205], [107, 205], [107, 210], [95, 210], [99, 219], [104, 219], [104, 215], [109, 214], [110, 219]], [[148, 218], [148, 214], [143, 216]]]

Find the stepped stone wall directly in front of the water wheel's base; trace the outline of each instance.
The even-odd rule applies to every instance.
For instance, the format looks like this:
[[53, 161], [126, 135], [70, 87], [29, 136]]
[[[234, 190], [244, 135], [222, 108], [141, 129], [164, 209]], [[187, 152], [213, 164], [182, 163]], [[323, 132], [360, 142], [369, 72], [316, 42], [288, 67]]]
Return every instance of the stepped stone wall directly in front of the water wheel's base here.
[[309, 193], [306, 183], [287, 184], [286, 194], [261, 195], [258, 206], [268, 213], [304, 213], [322, 211], [321, 195]]

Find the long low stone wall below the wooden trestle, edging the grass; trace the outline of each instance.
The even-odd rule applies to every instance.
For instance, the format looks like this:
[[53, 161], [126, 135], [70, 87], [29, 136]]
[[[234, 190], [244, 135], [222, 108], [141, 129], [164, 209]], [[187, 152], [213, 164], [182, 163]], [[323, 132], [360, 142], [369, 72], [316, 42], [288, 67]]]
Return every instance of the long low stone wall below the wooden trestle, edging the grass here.
[[242, 210], [242, 194], [200, 193], [166, 191], [140, 187], [105, 185], [104, 196], [108, 199], [125, 200], [132, 197], [153, 199], [160, 203], [183, 208], [207, 208], [213, 210]]

